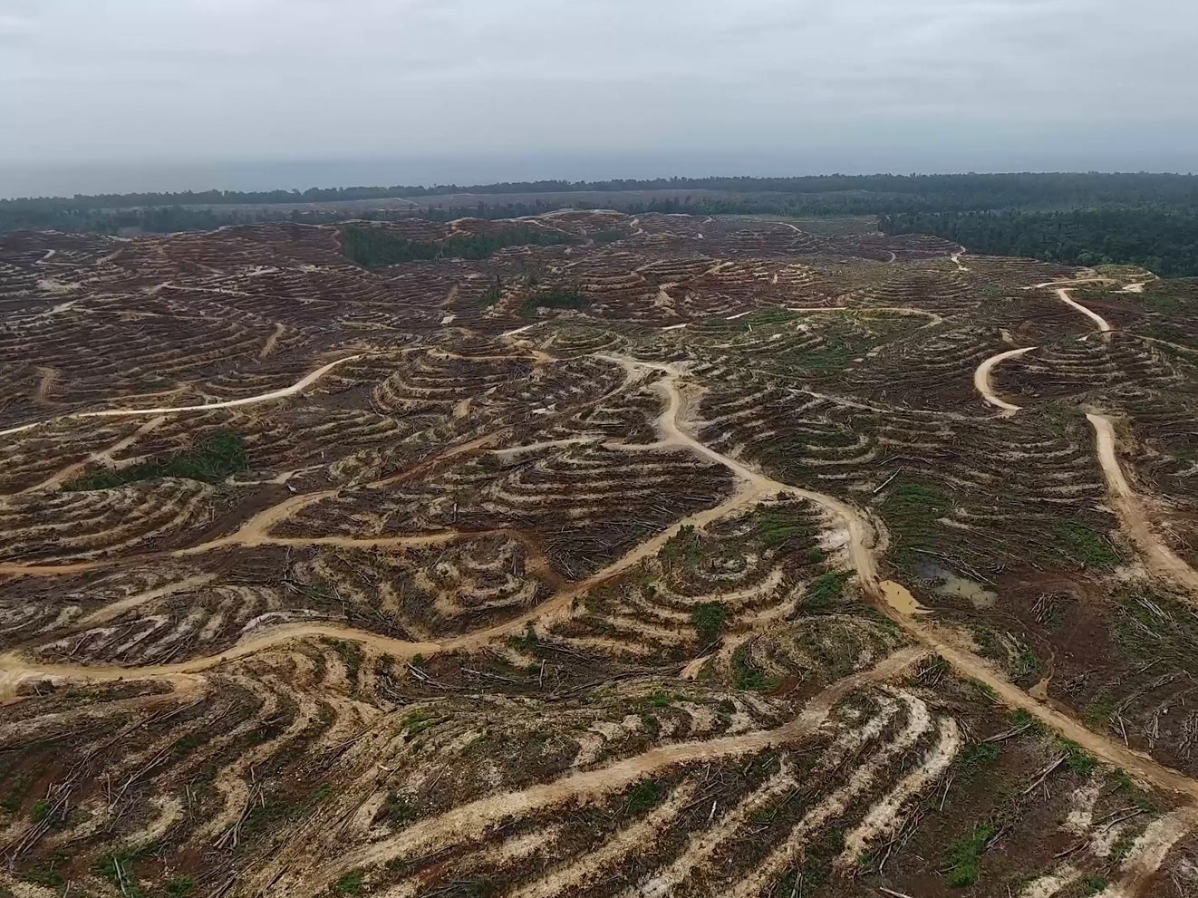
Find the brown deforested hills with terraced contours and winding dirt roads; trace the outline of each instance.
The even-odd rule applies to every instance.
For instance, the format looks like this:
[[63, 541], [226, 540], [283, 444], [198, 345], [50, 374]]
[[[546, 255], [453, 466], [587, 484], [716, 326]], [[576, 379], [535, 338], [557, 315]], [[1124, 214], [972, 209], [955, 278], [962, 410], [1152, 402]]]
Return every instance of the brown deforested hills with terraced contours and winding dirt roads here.
[[1198, 290], [801, 224], [0, 238], [0, 893], [1198, 893]]

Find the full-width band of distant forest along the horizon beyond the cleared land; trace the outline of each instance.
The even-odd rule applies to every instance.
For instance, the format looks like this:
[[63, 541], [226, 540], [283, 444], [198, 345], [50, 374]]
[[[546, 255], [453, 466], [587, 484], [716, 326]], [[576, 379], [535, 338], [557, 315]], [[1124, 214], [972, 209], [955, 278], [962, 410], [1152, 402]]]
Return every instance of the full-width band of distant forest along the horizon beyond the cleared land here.
[[[674, 192], [654, 196], [655, 192]], [[686, 195], [684, 192], [701, 192]], [[0, 232], [60, 230], [98, 233], [170, 233], [228, 224], [298, 222], [328, 224], [349, 218], [449, 220], [465, 216], [514, 218], [573, 205], [538, 193], [640, 192], [603, 205], [628, 213], [778, 214], [797, 218], [878, 216], [888, 233], [927, 232], [979, 253], [1025, 255], [1047, 261], [1143, 265], [1162, 275], [1198, 274], [1198, 176], [1156, 174], [821, 175], [811, 177], [653, 178], [643, 181], [531, 181], [432, 187], [345, 187], [241, 193], [105, 194], [0, 200]], [[683, 195], [678, 196], [678, 192]], [[713, 195], [710, 192], [721, 192]], [[444, 206], [444, 194], [490, 194], [476, 205]], [[510, 202], [496, 196], [512, 195]], [[271, 208], [406, 198], [429, 205], [407, 208]], [[617, 201], [621, 200], [621, 201]], [[223, 208], [212, 208], [222, 206]], [[238, 208], [244, 207], [244, 208]], [[265, 208], [264, 208], [265, 207]], [[431, 251], [362, 248], [367, 256]], [[446, 251], [438, 248], [436, 251]]]

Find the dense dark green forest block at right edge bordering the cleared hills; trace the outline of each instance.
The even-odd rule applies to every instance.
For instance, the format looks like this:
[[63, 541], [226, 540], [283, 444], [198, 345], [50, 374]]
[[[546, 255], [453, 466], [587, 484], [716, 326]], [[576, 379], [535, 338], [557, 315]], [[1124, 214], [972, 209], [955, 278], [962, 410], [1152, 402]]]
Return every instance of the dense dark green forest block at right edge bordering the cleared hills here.
[[1066, 265], [1139, 265], [1167, 278], [1198, 275], [1196, 208], [908, 213], [883, 216], [879, 227], [885, 233], [934, 233], [992, 255]]

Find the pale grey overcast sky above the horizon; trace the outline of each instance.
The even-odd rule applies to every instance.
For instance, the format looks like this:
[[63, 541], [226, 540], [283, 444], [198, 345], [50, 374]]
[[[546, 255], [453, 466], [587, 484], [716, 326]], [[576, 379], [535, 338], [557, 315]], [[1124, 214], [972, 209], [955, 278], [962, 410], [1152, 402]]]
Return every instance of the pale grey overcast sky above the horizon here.
[[1198, 170], [1192, 0], [0, 0], [0, 195]]

